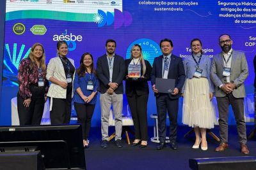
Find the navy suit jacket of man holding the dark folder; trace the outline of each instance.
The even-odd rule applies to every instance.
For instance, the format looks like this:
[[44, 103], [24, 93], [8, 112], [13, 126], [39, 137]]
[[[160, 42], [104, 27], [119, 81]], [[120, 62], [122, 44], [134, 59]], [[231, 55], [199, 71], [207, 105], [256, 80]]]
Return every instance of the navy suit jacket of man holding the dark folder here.
[[[156, 84], [156, 78], [163, 78], [162, 72], [163, 72], [163, 55], [160, 55], [159, 57], [156, 57], [154, 59], [154, 63], [152, 66], [152, 73], [151, 73], [151, 84], [152, 85]], [[184, 82], [186, 80], [186, 74], [185, 74], [182, 59], [173, 54], [171, 55], [168, 79], [175, 79], [175, 87], [177, 89], [179, 89], [179, 94], [177, 94], [175, 96], [172, 94], [169, 94], [169, 97], [171, 99], [179, 98], [180, 92], [181, 92]], [[155, 95], [157, 95], [157, 94], [155, 94]]]

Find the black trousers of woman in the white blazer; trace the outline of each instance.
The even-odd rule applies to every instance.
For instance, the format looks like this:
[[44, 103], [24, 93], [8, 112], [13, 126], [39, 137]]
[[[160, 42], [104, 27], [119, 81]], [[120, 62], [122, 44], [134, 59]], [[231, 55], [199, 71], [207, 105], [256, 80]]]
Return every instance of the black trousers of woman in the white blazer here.
[[52, 98], [51, 125], [69, 124], [71, 117], [72, 84], [68, 83], [66, 99]]

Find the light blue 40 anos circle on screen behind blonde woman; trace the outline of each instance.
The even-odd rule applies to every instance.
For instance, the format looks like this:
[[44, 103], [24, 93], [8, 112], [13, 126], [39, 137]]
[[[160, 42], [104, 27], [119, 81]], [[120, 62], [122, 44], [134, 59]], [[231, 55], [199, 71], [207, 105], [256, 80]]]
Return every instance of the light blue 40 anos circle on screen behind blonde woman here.
[[141, 46], [143, 58], [148, 60], [151, 65], [153, 64], [155, 57], [162, 55], [159, 45], [154, 40], [148, 38], [140, 38], [133, 41], [131, 45], [129, 45], [126, 52], [126, 59], [131, 58], [131, 48], [134, 44]]

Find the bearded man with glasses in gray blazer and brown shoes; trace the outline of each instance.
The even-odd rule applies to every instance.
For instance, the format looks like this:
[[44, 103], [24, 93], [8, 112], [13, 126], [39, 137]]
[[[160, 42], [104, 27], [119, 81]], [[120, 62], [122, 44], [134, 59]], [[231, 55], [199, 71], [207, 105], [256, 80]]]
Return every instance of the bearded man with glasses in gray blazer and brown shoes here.
[[221, 143], [216, 152], [228, 148], [228, 106], [231, 104], [236, 118], [241, 152], [249, 154], [246, 146], [246, 125], [244, 122], [244, 80], [248, 77], [248, 64], [243, 52], [232, 49], [232, 39], [228, 34], [219, 37], [221, 53], [214, 55], [211, 66], [211, 80], [215, 85], [215, 95], [219, 110]]

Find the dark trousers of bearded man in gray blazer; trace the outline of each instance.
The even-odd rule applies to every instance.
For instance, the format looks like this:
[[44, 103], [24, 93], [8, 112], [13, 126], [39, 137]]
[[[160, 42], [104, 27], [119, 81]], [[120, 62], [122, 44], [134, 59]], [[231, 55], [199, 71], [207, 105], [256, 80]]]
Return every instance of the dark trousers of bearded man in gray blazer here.
[[244, 122], [244, 98], [236, 98], [232, 93], [216, 97], [219, 111], [220, 141], [228, 143], [228, 107], [231, 104], [236, 118], [239, 143], [246, 144], [246, 124]]

